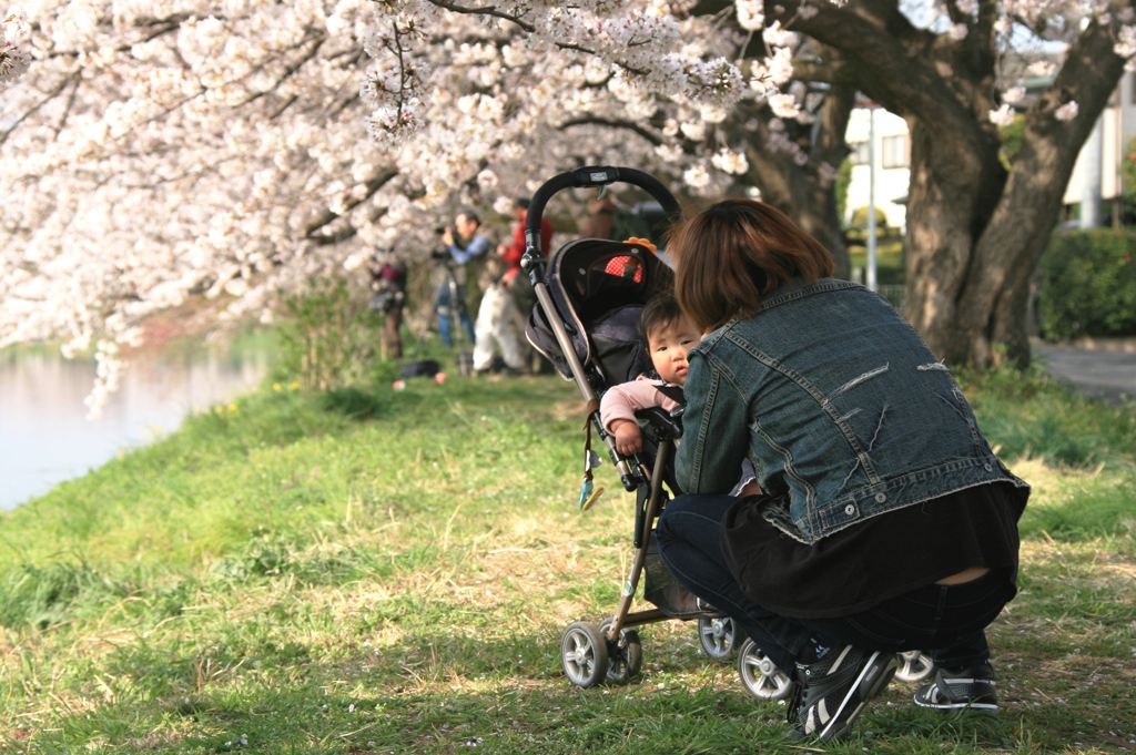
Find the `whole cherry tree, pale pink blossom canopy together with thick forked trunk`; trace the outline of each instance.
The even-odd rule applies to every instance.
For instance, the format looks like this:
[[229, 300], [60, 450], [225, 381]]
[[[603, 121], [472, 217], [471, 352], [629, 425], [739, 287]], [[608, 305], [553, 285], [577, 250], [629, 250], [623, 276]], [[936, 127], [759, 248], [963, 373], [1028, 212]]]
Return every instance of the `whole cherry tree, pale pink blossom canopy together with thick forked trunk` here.
[[[1130, 1], [1130, 0], [1129, 0]], [[833, 203], [857, 91], [912, 132], [908, 317], [951, 361], [1016, 358], [1026, 280], [1133, 54], [1131, 9], [955, 0], [39, 0], [0, 90], [0, 346], [270, 318], [459, 207], [629, 165], [684, 200], [760, 190], [846, 266]], [[1066, 53], [1012, 168], [1014, 28]], [[5, 42], [8, 44], [8, 42]], [[578, 198], [577, 198], [578, 199]], [[846, 268], [845, 268], [846, 269]], [[1025, 353], [1028, 353], [1026, 351]]]

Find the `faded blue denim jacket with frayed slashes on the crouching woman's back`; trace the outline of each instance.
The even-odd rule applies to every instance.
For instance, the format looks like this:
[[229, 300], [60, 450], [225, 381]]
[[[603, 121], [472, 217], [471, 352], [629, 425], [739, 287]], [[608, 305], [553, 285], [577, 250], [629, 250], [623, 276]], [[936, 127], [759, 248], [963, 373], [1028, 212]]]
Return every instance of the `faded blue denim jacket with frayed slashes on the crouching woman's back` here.
[[749, 459], [763, 517], [812, 544], [869, 517], [1008, 480], [946, 366], [884, 300], [824, 278], [772, 292], [687, 355], [676, 473], [727, 492]]

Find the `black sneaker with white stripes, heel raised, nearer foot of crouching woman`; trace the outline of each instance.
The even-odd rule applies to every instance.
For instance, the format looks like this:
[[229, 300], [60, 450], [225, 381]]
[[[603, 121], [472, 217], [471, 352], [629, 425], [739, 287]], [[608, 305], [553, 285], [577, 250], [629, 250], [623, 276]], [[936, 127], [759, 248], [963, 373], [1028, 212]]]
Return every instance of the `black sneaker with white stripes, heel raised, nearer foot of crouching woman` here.
[[887, 687], [899, 661], [894, 653], [860, 651], [851, 645], [834, 648], [830, 656], [808, 665], [796, 664], [801, 683], [797, 727], [791, 739], [838, 739], [852, 730], [863, 706]]

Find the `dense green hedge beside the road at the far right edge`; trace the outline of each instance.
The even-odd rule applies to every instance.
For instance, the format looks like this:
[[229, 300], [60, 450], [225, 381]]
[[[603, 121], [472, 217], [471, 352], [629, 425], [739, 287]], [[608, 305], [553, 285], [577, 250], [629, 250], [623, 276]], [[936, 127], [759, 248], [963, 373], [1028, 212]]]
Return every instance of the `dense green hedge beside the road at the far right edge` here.
[[1054, 234], [1039, 268], [1038, 314], [1049, 341], [1136, 334], [1136, 232]]

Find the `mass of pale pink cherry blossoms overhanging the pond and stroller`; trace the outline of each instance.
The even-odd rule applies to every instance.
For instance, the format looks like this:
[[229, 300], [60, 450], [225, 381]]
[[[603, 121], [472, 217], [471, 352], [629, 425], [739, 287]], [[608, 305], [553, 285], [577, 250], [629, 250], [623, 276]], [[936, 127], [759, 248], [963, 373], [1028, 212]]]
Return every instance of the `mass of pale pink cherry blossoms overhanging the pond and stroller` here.
[[[0, 110], [0, 345], [93, 349], [97, 408], [154, 312], [270, 317], [282, 293], [378, 245], [425, 254], [459, 205], [575, 165], [657, 169], [692, 195], [749, 169], [717, 128], [746, 93], [717, 53], [736, 41], [696, 19], [608, 2], [534, 26], [520, 8], [411, 5], [28, 8], [34, 74]], [[619, 50], [634, 54], [605, 61]], [[390, 91], [406, 97], [377, 106]]]

